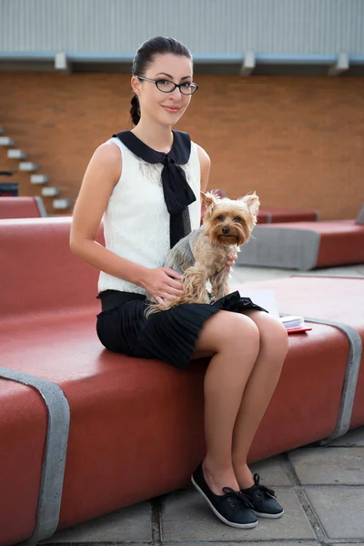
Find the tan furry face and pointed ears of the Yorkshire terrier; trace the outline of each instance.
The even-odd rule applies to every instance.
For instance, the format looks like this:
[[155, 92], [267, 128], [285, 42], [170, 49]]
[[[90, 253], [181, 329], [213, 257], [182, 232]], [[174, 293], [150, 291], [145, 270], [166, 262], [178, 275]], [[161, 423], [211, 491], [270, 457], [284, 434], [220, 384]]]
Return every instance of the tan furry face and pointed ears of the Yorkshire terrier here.
[[214, 245], [240, 247], [248, 241], [257, 224], [260, 203], [256, 192], [237, 200], [220, 198], [211, 192], [201, 192], [201, 197], [206, 205], [205, 233]]

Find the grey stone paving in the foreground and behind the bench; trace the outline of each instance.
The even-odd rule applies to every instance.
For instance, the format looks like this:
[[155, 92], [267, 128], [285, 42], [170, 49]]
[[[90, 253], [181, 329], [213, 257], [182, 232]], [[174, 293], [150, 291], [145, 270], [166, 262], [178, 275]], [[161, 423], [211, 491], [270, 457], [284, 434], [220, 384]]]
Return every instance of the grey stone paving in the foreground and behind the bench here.
[[[284, 278], [297, 271], [236, 268], [237, 282]], [[305, 274], [304, 272], [300, 274]], [[364, 265], [310, 275], [364, 277]], [[319, 546], [364, 544], [364, 427], [329, 447], [307, 446], [251, 465], [276, 490], [279, 520], [259, 520], [241, 531], [217, 520], [191, 486], [56, 533], [44, 543], [164, 546]]]

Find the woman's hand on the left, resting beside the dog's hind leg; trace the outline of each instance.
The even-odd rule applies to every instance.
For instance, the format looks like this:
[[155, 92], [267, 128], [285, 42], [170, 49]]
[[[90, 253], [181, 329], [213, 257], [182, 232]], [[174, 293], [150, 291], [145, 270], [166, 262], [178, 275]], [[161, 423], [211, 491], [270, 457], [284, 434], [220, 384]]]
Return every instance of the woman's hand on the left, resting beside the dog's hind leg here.
[[171, 268], [147, 269], [141, 286], [162, 305], [165, 300], [183, 296], [182, 276]]

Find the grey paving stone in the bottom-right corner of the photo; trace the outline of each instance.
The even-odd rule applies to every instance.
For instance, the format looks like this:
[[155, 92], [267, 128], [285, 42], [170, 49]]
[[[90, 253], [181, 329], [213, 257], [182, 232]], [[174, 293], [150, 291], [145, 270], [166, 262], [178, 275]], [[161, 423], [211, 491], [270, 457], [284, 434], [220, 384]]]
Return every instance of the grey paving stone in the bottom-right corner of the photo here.
[[364, 487], [326, 485], [305, 490], [329, 539], [364, 541]]

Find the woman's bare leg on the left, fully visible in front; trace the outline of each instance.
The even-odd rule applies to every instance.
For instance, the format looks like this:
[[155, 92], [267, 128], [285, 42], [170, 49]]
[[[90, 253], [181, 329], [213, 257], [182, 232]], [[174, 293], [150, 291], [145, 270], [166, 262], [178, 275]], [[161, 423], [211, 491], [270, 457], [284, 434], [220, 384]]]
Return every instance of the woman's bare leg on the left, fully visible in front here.
[[[238, 333], [237, 333], [238, 332]], [[243, 314], [218, 311], [201, 329], [193, 358], [212, 356], [205, 376], [203, 461], [209, 488], [222, 495], [239, 489], [232, 464], [232, 438], [248, 377], [258, 357], [259, 332]]]

